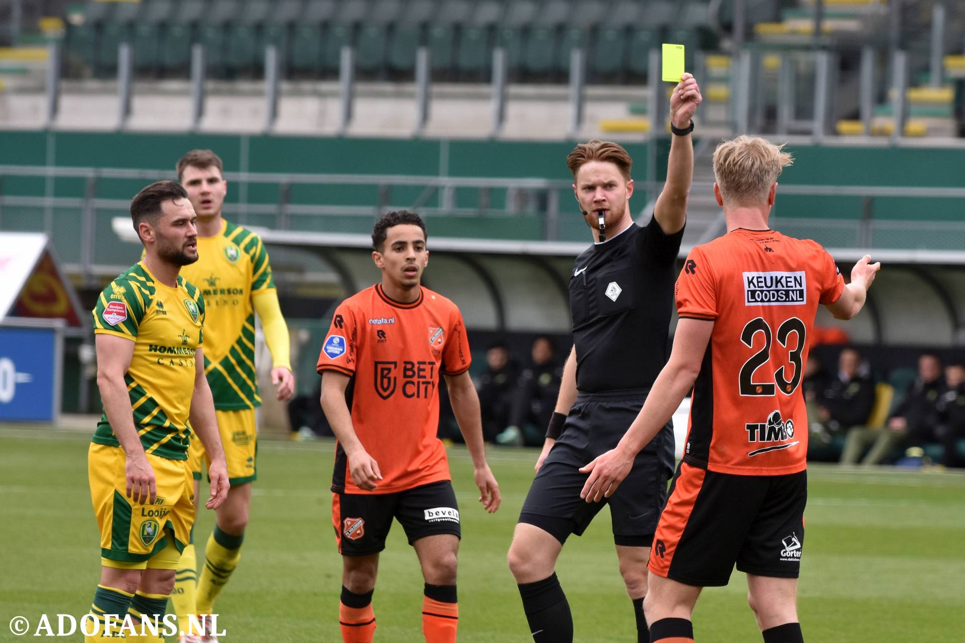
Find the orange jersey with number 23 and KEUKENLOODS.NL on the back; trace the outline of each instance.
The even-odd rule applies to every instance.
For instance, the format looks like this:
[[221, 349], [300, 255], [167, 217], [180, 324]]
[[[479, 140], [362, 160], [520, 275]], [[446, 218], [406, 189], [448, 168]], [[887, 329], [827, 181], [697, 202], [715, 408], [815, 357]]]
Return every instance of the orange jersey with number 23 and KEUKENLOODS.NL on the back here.
[[819, 304], [841, 297], [834, 259], [811, 240], [737, 228], [687, 255], [680, 317], [713, 319], [694, 383], [683, 459], [744, 475], [806, 468], [800, 389]]

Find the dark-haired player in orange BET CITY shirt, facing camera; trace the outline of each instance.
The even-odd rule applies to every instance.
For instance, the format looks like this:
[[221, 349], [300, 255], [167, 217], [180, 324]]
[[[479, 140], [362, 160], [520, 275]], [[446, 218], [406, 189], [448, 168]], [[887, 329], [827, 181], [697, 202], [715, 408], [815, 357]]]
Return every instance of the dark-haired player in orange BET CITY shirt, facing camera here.
[[[380, 218], [372, 231], [372, 259], [382, 281], [336, 309], [318, 357], [321, 406], [339, 440], [332, 522], [343, 556], [342, 639], [372, 641], [378, 555], [395, 518], [426, 579], [427, 643], [451, 643], [458, 625], [455, 556], [461, 532], [446, 449], [436, 437], [440, 376], [489, 513], [499, 508], [499, 486], [485, 460], [462, 316], [453, 302], [419, 282], [428, 262], [422, 219], [404, 211]], [[345, 403], [349, 382], [351, 411]]]

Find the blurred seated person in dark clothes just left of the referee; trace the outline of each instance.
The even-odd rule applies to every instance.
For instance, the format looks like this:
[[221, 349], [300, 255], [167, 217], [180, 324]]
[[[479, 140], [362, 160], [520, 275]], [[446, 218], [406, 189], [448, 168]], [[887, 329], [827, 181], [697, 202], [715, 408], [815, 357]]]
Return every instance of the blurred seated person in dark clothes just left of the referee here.
[[496, 436], [500, 444], [542, 446], [545, 427], [556, 409], [563, 381], [563, 365], [556, 361], [556, 346], [546, 336], [533, 340], [532, 362], [523, 369], [512, 391], [509, 426]]

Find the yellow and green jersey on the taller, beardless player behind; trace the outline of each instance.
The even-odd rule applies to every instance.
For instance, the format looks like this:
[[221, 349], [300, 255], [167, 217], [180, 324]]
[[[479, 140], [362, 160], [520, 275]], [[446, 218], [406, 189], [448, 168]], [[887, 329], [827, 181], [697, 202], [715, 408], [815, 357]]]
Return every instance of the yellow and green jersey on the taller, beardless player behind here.
[[207, 303], [205, 372], [219, 411], [262, 405], [255, 376], [252, 295], [275, 287], [262, 237], [222, 220], [221, 231], [198, 237], [198, 260], [181, 268]]

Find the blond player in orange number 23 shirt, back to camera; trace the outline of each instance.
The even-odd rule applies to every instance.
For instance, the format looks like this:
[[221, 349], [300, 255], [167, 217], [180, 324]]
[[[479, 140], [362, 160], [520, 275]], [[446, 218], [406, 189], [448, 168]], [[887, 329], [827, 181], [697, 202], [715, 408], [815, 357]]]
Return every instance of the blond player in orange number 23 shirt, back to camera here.
[[610, 496], [633, 456], [693, 389], [676, 469], [648, 563], [650, 640], [694, 640], [701, 589], [726, 585], [734, 564], [765, 643], [803, 643], [797, 577], [808, 500], [808, 415], [801, 378], [818, 305], [851, 319], [881, 267], [865, 255], [847, 285], [811, 240], [768, 227], [781, 147], [740, 136], [714, 152], [714, 195], [728, 232], [697, 246], [676, 281], [670, 361], [616, 448], [591, 462], [581, 496]]

